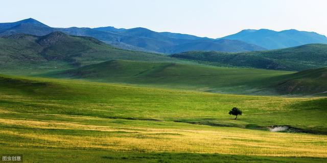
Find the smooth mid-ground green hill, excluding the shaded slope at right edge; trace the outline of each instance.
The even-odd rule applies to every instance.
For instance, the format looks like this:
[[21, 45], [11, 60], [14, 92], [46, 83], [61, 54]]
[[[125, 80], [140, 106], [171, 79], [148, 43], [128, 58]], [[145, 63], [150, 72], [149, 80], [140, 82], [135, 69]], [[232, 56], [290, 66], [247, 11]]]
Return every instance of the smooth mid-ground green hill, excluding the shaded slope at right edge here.
[[[292, 72], [111, 60], [45, 76], [234, 94], [276, 94], [272, 77]], [[277, 80], [277, 79], [276, 79]]]

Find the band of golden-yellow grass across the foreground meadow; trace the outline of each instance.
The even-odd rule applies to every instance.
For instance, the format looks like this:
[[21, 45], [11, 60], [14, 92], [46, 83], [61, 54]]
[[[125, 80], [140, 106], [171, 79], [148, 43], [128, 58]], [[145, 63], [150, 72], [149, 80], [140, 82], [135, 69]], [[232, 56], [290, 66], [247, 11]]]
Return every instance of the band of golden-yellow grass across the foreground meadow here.
[[[46, 115], [43, 115], [46, 116]], [[1, 125], [33, 128], [34, 132], [1, 130], [2, 136], [14, 136], [32, 141], [20, 141], [21, 147], [99, 148], [112, 151], [195, 152], [260, 156], [327, 157], [327, 136], [299, 133], [273, 133], [227, 127], [208, 127], [172, 122], [144, 122], [139, 126], [86, 125], [74, 119], [95, 121], [97, 118], [69, 117], [72, 122], [0, 119]], [[104, 121], [101, 119], [101, 121]], [[106, 120], [113, 121], [113, 120]], [[157, 127], [143, 126], [155, 123]], [[143, 124], [143, 125], [142, 125]], [[158, 125], [159, 124], [159, 125]], [[160, 128], [160, 125], [166, 127]], [[196, 127], [194, 127], [196, 126]], [[167, 128], [168, 127], [168, 128]], [[47, 130], [101, 131], [99, 134], [74, 135]], [[0, 140], [0, 143], [5, 143]]]

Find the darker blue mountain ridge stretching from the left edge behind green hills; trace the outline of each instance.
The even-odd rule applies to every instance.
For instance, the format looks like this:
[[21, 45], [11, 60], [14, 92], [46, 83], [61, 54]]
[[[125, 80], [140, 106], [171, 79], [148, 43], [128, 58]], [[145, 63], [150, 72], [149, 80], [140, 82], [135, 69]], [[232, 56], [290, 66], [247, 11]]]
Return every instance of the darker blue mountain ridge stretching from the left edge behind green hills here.
[[158, 53], [179, 53], [191, 50], [224, 52], [265, 50], [258, 45], [243, 41], [220, 41], [179, 33], [154, 32], [146, 28], [52, 28], [32, 18], [12, 23], [0, 23], [0, 36], [16, 33], [43, 36], [55, 31], [64, 32], [68, 35], [94, 37], [117, 48]]

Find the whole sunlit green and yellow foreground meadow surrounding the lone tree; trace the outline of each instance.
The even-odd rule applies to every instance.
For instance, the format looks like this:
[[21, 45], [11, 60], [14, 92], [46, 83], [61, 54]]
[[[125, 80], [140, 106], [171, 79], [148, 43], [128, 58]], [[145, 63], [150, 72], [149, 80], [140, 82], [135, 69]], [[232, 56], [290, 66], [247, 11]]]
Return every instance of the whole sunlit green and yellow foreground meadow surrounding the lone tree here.
[[[206, 161], [222, 162], [323, 162], [327, 157], [325, 135], [262, 131], [264, 126], [290, 125], [327, 133], [325, 98], [219, 95], [8, 76], [0, 83], [0, 143], [6, 147], [1, 152], [23, 153], [28, 162], [62, 155], [68, 162], [77, 162], [68, 155], [101, 162], [199, 157], [191, 153], [235, 154], [202, 155]], [[244, 112], [237, 121], [227, 114], [234, 106]], [[246, 129], [253, 127], [261, 130]], [[160, 152], [173, 153], [154, 154]]]

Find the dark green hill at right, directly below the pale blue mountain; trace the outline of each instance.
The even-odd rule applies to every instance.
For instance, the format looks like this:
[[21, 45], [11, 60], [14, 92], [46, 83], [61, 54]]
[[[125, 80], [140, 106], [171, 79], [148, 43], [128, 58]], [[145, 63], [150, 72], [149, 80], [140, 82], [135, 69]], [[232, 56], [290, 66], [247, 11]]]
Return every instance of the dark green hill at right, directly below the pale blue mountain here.
[[302, 71], [327, 66], [327, 44], [307, 44], [294, 48], [244, 53], [193, 51], [171, 56], [213, 65]]

